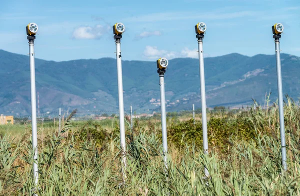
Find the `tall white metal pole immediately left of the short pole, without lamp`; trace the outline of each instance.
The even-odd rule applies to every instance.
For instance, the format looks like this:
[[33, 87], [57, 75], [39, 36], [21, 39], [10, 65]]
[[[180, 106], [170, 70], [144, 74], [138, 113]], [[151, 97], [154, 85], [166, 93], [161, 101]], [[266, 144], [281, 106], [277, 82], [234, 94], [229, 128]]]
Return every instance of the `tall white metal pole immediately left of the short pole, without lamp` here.
[[126, 171], [126, 146], [125, 146], [125, 124], [124, 124], [124, 103], [123, 103], [123, 82], [122, 82], [122, 62], [121, 62], [121, 42], [120, 38], [115, 39], [116, 68], [117, 68], [117, 88], [119, 102], [119, 122], [120, 122], [120, 143], [122, 150], [122, 173]]

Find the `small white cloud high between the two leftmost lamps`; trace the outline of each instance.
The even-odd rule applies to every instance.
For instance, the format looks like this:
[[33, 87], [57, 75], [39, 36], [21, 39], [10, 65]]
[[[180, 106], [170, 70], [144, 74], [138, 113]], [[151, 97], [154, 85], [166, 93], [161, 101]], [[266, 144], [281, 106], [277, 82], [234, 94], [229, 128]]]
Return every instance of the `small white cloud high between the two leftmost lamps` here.
[[109, 26], [102, 26], [96, 25], [94, 27], [85, 26], [85, 27], [78, 27], [73, 32], [73, 39], [87, 39], [87, 40], [94, 40], [101, 38], [108, 30], [110, 29]]

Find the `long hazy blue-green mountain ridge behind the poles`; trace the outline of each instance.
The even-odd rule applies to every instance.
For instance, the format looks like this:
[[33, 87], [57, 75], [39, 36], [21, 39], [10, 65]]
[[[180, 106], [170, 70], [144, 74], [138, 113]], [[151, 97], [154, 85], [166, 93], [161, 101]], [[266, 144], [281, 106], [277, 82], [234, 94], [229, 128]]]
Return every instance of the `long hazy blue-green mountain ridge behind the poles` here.
[[[0, 50], [0, 113], [30, 114], [30, 78], [28, 56]], [[300, 58], [281, 54], [283, 93], [299, 97]], [[78, 110], [117, 110], [116, 60], [112, 58], [45, 61], [35, 59], [36, 91], [40, 112], [57, 108]], [[206, 103], [237, 106], [252, 102], [263, 104], [265, 93], [277, 96], [274, 55], [247, 57], [229, 54], [205, 58]], [[137, 109], [158, 108], [159, 78], [156, 63], [122, 61], [124, 106]], [[198, 60], [169, 60], [165, 73], [167, 110], [200, 107]]]

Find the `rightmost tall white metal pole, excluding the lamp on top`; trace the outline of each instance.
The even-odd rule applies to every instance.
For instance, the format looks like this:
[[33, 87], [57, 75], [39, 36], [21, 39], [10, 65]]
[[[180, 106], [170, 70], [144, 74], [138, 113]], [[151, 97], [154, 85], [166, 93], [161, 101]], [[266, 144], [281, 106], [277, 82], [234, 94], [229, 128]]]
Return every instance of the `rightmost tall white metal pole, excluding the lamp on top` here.
[[278, 86], [278, 103], [279, 103], [279, 121], [280, 121], [282, 166], [283, 166], [284, 170], [287, 170], [279, 38], [275, 38], [274, 41], [275, 41], [275, 53], [276, 53], [276, 66], [277, 66], [277, 86]]

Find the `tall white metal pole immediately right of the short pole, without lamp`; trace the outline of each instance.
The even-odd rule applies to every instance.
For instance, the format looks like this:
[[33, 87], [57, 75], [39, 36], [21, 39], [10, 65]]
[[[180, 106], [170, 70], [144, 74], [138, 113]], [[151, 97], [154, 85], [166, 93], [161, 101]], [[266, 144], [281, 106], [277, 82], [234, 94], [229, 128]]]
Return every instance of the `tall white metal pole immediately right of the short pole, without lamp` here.
[[[198, 38], [198, 55], [199, 55], [199, 73], [200, 73], [200, 91], [201, 91], [201, 111], [202, 111], [202, 132], [203, 132], [203, 151], [208, 154], [207, 139], [207, 119], [206, 119], [206, 101], [205, 101], [205, 80], [204, 80], [204, 60], [203, 60], [203, 40]], [[205, 176], [209, 176], [209, 172], [204, 167]]]

